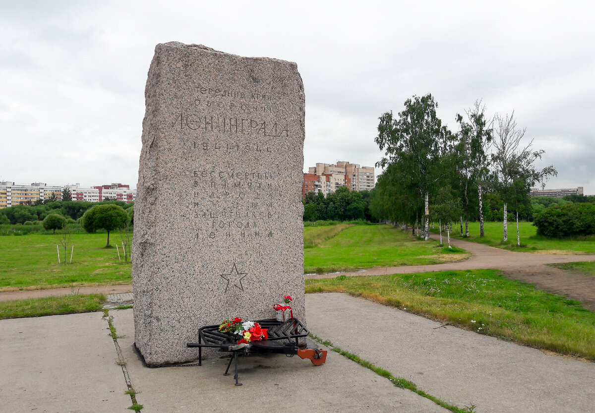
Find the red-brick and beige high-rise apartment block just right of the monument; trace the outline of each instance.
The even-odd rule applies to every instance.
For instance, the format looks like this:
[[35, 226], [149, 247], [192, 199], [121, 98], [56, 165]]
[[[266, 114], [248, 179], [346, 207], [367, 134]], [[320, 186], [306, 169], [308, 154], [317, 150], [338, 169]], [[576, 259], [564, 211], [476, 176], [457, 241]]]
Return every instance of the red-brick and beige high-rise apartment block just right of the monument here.
[[375, 186], [374, 168], [346, 161], [334, 165], [317, 163], [303, 176], [302, 196], [308, 192], [321, 192], [326, 196], [342, 186], [353, 190], [371, 190]]

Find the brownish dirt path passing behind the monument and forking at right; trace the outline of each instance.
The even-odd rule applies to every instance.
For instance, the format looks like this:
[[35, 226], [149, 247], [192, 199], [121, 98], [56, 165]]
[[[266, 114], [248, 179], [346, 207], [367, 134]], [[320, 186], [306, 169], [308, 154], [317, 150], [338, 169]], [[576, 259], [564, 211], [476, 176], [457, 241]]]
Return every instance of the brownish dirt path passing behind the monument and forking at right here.
[[[433, 239], [439, 239], [437, 234], [431, 234]], [[460, 262], [447, 262], [433, 265], [408, 265], [405, 267], [372, 268], [347, 273], [309, 274], [306, 279], [334, 278], [341, 274], [346, 276], [380, 276], [387, 274], [428, 273], [431, 271], [449, 270], [480, 270], [489, 268], [501, 270], [511, 280], [524, 281], [556, 294], [578, 300], [591, 311], [595, 311], [595, 277], [581, 273], [562, 271], [545, 264], [558, 262], [595, 261], [595, 255], [554, 255], [530, 254], [526, 252], [512, 252], [505, 249], [493, 248], [487, 245], [459, 239], [451, 240], [452, 245], [471, 252], [471, 258]], [[40, 298], [47, 296], [68, 295], [74, 293], [118, 294], [131, 292], [131, 285], [74, 287], [51, 290], [26, 290], [0, 293], [0, 301], [10, 301], [25, 298]]]

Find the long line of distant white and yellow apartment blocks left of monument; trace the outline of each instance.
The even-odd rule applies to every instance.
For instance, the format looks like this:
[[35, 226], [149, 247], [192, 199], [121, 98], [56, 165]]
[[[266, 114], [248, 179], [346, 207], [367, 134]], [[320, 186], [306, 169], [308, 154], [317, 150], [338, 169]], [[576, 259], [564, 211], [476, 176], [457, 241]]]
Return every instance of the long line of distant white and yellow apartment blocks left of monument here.
[[112, 183], [111, 185], [95, 186], [92, 188], [81, 188], [80, 184], [52, 186], [45, 183], [15, 184], [14, 182], [0, 182], [0, 208], [7, 206], [24, 205], [35, 202], [37, 199], [48, 201], [54, 196], [55, 199], [62, 199], [62, 190], [70, 190], [73, 201], [99, 202], [105, 199], [116, 199], [127, 204], [136, 199], [136, 189], [130, 189], [130, 185]]

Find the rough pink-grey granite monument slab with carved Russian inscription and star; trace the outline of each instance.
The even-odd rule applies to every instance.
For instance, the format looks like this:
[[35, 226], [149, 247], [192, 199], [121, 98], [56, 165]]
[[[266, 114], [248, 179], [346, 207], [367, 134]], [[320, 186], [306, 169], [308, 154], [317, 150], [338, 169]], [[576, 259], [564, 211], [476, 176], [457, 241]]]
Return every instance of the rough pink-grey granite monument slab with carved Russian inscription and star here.
[[159, 44], [145, 90], [134, 205], [136, 346], [147, 364], [189, 361], [198, 328], [305, 321], [305, 98], [297, 65]]

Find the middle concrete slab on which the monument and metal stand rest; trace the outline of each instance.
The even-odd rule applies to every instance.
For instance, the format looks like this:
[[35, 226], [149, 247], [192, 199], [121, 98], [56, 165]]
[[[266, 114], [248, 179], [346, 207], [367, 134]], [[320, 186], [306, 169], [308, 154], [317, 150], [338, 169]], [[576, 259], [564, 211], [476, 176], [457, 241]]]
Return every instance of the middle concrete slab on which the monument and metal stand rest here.
[[[223, 376], [227, 358], [208, 359], [201, 367], [148, 368], [133, 349], [132, 311], [109, 314], [114, 317], [118, 334], [126, 334], [118, 343], [127, 359], [131, 383], [141, 392], [137, 402], [145, 406], [143, 413], [447, 412], [331, 351], [326, 364], [320, 367], [297, 356], [242, 357], [239, 377], [243, 386], [240, 387], [234, 386], [233, 374]], [[321, 330], [320, 333], [324, 332], [324, 328]]]

